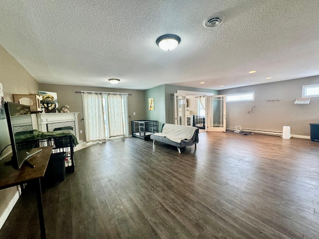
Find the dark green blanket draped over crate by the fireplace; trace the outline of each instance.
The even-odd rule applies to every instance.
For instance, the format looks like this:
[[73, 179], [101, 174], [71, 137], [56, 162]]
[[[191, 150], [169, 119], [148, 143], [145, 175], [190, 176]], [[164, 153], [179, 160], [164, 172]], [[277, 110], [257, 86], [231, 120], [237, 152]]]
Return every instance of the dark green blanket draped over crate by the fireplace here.
[[33, 129], [33, 133], [26, 133], [26, 134], [15, 134], [15, 140], [17, 142], [21, 141], [27, 141], [27, 140], [36, 140], [36, 139], [43, 139], [43, 138], [49, 138], [49, 137], [59, 137], [59, 136], [67, 136], [71, 135], [73, 138], [74, 145], [78, 145], [79, 142], [74, 134], [74, 131], [72, 129], [63, 129], [63, 130], [56, 130], [56, 131], [48, 131], [48, 132], [42, 132], [36, 129]]

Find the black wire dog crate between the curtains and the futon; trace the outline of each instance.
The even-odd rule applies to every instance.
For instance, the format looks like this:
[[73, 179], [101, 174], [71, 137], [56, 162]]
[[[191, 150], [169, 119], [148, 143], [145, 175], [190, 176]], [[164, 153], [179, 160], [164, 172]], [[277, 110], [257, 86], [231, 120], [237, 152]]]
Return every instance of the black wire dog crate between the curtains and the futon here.
[[132, 137], [143, 138], [147, 140], [151, 134], [159, 131], [159, 122], [156, 120], [135, 120], [132, 121]]

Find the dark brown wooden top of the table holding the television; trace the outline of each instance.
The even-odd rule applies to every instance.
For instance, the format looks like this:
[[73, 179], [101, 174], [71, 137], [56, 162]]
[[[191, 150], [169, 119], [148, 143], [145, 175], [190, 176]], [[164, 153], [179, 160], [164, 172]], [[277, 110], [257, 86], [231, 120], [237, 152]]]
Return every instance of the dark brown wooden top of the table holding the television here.
[[0, 189], [25, 183], [27, 181], [44, 176], [53, 146], [42, 147], [42, 151], [28, 158], [28, 161], [35, 166], [31, 168], [23, 164], [20, 169], [14, 169], [11, 165], [4, 163], [11, 159], [8, 155], [0, 161]]

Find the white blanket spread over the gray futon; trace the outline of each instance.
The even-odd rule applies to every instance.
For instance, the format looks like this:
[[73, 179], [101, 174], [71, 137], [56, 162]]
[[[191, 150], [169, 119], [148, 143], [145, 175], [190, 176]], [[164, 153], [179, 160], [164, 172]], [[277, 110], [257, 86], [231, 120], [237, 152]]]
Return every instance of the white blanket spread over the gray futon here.
[[184, 139], [191, 139], [196, 129], [193, 126], [165, 123], [161, 133], [155, 133], [154, 135], [166, 137], [171, 141], [180, 143]]

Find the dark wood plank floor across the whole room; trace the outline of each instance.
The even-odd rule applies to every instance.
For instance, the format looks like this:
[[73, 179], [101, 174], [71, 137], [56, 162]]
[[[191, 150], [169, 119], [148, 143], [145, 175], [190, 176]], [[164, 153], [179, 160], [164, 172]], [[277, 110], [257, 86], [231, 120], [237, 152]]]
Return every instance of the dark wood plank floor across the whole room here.
[[[199, 134], [197, 149], [138, 138], [75, 152], [75, 172], [43, 189], [48, 239], [319, 239], [319, 142]], [[28, 190], [1, 239], [37, 239]]]

